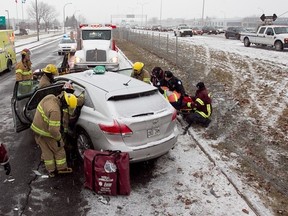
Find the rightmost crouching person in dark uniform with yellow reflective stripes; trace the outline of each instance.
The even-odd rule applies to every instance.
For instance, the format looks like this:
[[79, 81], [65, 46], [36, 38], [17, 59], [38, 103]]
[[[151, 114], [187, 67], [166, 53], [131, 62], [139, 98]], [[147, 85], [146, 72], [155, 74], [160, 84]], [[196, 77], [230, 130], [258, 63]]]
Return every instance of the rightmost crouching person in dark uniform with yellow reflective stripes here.
[[196, 87], [195, 96], [192, 98], [193, 102], [187, 103], [187, 106], [191, 107], [193, 112], [186, 117], [186, 121], [189, 124], [188, 126], [191, 124], [200, 124], [204, 127], [208, 127], [211, 122], [210, 116], [212, 114], [211, 94], [208, 93], [203, 82], [197, 83]]

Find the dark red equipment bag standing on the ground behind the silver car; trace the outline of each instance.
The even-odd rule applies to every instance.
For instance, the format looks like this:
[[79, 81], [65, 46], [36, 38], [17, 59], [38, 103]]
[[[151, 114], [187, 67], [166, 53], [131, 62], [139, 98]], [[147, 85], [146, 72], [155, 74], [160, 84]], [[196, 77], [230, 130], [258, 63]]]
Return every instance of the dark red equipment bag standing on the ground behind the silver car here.
[[129, 195], [129, 155], [119, 151], [84, 152], [84, 186], [103, 195]]

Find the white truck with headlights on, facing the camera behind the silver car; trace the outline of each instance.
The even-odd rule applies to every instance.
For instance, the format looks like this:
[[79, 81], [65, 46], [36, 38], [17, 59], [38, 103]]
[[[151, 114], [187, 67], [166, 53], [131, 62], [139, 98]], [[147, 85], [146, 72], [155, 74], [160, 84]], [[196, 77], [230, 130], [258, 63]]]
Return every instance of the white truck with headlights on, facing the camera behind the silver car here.
[[74, 68], [94, 68], [103, 65], [108, 71], [119, 69], [118, 49], [111, 24], [80, 24], [77, 31], [77, 50]]

